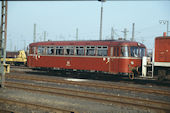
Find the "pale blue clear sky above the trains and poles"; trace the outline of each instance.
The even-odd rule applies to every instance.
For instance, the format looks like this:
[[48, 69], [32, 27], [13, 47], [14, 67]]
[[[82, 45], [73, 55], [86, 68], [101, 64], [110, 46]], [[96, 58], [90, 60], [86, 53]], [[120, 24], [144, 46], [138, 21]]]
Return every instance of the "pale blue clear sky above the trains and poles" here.
[[[33, 42], [34, 24], [36, 41], [98, 40], [101, 3], [98, 1], [8, 1], [7, 50], [22, 50]], [[167, 1], [106, 1], [103, 3], [102, 39], [110, 39], [114, 28], [114, 39], [132, 37], [135, 23], [135, 41], [148, 49], [154, 47], [154, 39], [167, 31], [170, 23], [170, 0]], [[170, 30], [170, 24], [169, 24]], [[169, 32], [170, 34], [170, 32]]]

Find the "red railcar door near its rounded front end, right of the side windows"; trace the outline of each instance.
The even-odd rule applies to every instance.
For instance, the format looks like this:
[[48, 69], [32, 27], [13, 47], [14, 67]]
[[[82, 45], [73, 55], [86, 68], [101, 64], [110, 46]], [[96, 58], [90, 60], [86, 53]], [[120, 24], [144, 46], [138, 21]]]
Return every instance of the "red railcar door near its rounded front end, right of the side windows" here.
[[119, 47], [111, 47], [110, 52], [111, 62], [109, 66], [109, 72], [117, 74], [119, 73]]

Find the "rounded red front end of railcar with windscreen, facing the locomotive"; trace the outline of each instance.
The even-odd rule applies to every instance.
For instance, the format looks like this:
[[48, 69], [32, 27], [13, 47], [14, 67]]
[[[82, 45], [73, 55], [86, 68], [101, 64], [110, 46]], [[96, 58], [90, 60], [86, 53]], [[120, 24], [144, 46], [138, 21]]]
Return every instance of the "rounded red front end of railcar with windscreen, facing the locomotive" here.
[[146, 48], [140, 43], [128, 42], [113, 48], [111, 67], [115, 74], [125, 74], [134, 78], [141, 74], [142, 57], [146, 55]]

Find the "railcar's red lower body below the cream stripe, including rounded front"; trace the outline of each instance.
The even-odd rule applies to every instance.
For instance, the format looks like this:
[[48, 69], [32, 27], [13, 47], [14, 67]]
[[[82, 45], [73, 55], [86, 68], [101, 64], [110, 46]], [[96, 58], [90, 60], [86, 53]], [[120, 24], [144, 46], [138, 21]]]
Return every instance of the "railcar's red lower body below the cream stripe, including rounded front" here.
[[28, 59], [30, 67], [96, 70], [114, 74], [129, 73], [133, 67], [141, 66], [141, 59], [128, 58], [29, 56]]

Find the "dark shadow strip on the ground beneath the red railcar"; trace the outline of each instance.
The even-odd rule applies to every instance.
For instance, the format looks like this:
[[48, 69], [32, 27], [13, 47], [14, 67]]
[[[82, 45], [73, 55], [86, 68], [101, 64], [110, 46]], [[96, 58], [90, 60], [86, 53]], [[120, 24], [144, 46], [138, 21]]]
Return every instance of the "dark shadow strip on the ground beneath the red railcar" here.
[[157, 80], [144, 80], [144, 79], [129, 79], [128, 76], [113, 75], [102, 72], [85, 72], [85, 71], [73, 71], [73, 70], [38, 70], [32, 72], [26, 72], [27, 74], [38, 74], [45, 76], [57, 76], [76, 79], [89, 79], [109, 82], [124, 82], [140, 85], [157, 85], [170, 87], [170, 81], [157, 81]]

